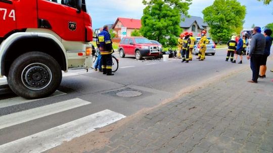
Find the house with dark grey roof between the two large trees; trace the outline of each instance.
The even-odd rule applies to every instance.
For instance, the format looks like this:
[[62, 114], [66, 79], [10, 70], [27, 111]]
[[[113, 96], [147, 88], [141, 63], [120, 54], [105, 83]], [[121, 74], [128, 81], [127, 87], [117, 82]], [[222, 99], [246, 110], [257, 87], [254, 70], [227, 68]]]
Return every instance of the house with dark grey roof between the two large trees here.
[[[180, 27], [183, 31], [193, 32], [194, 36], [200, 36], [202, 30], [208, 32], [209, 27], [201, 17], [191, 16], [186, 18], [184, 15], [181, 16], [181, 19], [185, 18], [185, 21], [180, 22]], [[207, 33], [207, 37], [210, 37], [210, 34]]]

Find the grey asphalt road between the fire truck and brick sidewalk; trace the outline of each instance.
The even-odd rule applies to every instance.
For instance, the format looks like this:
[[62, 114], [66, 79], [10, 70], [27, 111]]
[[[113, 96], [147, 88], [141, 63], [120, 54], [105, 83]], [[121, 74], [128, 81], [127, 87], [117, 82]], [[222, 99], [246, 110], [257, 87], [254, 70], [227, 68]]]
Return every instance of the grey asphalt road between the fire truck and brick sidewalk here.
[[[243, 64], [226, 62], [225, 56], [225, 49], [218, 49], [215, 56], [207, 55], [205, 61], [194, 59], [190, 63], [181, 63], [180, 59], [170, 59], [167, 62], [162, 59], [135, 60], [132, 57], [120, 58], [117, 54], [120, 65], [114, 76], [106, 76], [92, 70], [87, 73], [84, 70], [70, 70], [64, 74], [59, 92], [55, 93], [54, 97], [34, 101], [27, 101], [14, 95], [2, 79], [0, 149], [13, 147], [19, 143], [20, 138], [59, 127], [100, 111], [111, 110], [120, 114], [115, 120], [112, 119], [113, 122], [117, 121], [144, 108], [154, 107], [187, 87], [213, 80], [217, 75], [229, 74], [233, 70], [249, 65], [245, 56]], [[142, 95], [137, 97], [116, 95], [126, 91]], [[73, 137], [62, 140], [71, 138]]]

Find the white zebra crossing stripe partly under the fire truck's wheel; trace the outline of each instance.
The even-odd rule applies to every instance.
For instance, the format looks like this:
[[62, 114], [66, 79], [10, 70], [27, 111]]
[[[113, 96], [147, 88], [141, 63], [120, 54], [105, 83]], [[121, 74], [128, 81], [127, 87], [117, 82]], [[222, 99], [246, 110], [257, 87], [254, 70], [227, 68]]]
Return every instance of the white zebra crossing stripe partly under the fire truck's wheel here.
[[[63, 93], [63, 92], [57, 90], [55, 93], [53, 93], [51, 96], [49, 96], [47, 98], [61, 96], [61, 95], [66, 95], [66, 93]], [[45, 98], [42, 98], [42, 99], [45, 99]], [[18, 105], [18, 104], [29, 103], [29, 102], [33, 102], [33, 101], [37, 101], [37, 100], [41, 100], [41, 99], [27, 100], [22, 97], [14, 97], [14, 98], [9, 98], [9, 99], [4, 99], [4, 100], [0, 100], [0, 108], [14, 106], [14, 105]]]

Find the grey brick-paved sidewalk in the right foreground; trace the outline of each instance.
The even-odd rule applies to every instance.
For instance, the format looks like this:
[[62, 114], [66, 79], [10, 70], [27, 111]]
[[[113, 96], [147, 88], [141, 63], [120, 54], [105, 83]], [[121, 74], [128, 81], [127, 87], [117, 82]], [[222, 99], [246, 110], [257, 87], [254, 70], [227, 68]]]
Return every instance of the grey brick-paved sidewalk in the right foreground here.
[[247, 70], [156, 108], [86, 152], [273, 152], [273, 78]]

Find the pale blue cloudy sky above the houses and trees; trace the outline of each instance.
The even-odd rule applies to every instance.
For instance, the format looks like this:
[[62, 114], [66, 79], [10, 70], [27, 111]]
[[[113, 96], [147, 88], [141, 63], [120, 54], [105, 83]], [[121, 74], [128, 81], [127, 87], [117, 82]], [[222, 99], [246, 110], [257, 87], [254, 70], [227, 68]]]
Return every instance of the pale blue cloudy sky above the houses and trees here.
[[[202, 10], [213, 4], [213, 0], [193, 0], [189, 14], [203, 18]], [[244, 28], [265, 26], [273, 23], [273, 3], [264, 6], [257, 0], [239, 0], [247, 7]], [[93, 20], [93, 29], [100, 28], [105, 24], [113, 24], [118, 17], [141, 19], [145, 6], [142, 0], [86, 0], [88, 13]]]

